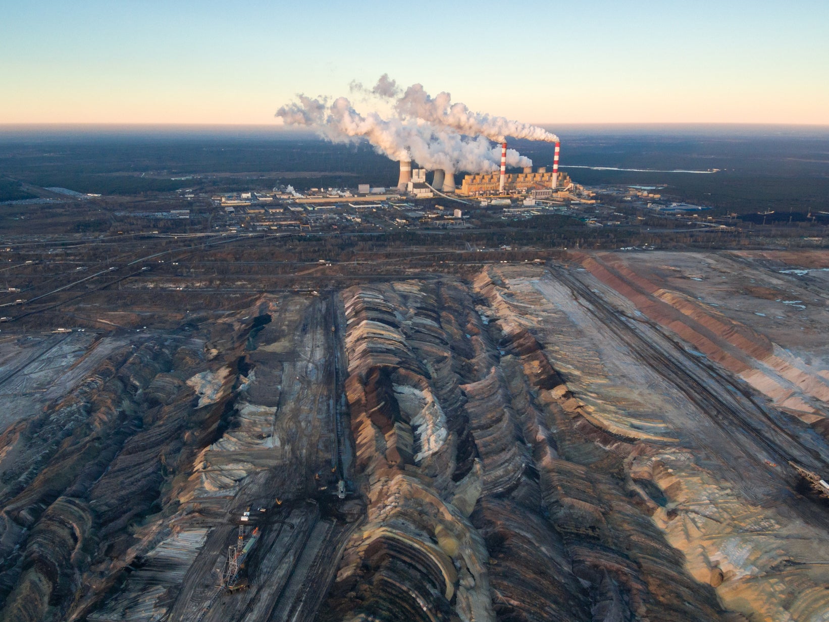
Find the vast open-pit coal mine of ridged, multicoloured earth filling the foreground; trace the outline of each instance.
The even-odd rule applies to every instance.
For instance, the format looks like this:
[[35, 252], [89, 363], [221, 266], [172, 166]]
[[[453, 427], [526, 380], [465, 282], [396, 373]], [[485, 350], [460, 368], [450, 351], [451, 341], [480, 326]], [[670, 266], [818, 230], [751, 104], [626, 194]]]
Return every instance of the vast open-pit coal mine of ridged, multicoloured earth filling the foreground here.
[[825, 253], [394, 268], [3, 325], [0, 620], [829, 620]]

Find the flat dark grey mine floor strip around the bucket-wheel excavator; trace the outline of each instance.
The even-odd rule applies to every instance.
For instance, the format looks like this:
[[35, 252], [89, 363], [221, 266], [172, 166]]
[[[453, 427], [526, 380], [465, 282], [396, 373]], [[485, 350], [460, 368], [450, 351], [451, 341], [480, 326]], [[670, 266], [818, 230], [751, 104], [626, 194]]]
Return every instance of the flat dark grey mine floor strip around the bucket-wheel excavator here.
[[[350, 472], [350, 451], [344, 447], [340, 420], [340, 393], [345, 370], [342, 353], [343, 315], [336, 293], [311, 303], [297, 331], [296, 360], [284, 363], [283, 381], [292, 388], [280, 392], [277, 418], [299, 425], [308, 464], [290, 465], [293, 479], [308, 479], [309, 464], [336, 471], [337, 478]], [[332, 330], [332, 327], [334, 328]], [[275, 434], [275, 428], [274, 428]], [[330, 442], [329, 442], [330, 441]], [[330, 451], [330, 454], [328, 452]], [[291, 462], [302, 462], [289, 456]], [[288, 467], [288, 465], [285, 465]], [[274, 464], [274, 469], [280, 469]], [[163, 620], [165, 622], [313, 622], [337, 571], [338, 560], [359, 522], [340, 522], [322, 516], [310, 494], [281, 505], [274, 503], [279, 486], [273, 469], [245, 479], [234, 497], [225, 502], [225, 514], [213, 523], [206, 542], [187, 570], [181, 589]], [[302, 490], [302, 482], [298, 488]], [[313, 486], [313, 484], [312, 484]], [[322, 495], [336, 492], [329, 486]], [[310, 493], [306, 490], [305, 493]], [[248, 532], [259, 527], [259, 540], [240, 578], [248, 587], [219, 587], [228, 547], [238, 538], [240, 517], [246, 507], [252, 519]], [[259, 513], [259, 507], [268, 508]]]

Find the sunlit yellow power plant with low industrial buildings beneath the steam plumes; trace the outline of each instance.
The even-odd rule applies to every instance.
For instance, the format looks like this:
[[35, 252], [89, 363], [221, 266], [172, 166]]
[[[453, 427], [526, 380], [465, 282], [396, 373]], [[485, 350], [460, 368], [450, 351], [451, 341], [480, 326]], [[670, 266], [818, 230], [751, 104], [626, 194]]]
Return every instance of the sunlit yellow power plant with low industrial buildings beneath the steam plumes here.
[[[312, 231], [321, 227], [332, 231], [354, 227], [362, 231], [401, 227], [448, 229], [470, 226], [468, 210], [475, 207], [487, 211], [502, 208], [502, 212], [496, 209], [493, 213], [516, 219], [545, 212], [571, 213], [597, 203], [594, 191], [559, 172], [559, 143], [555, 143], [551, 167], [511, 167], [509, 173], [507, 162], [510, 158], [513, 163], [517, 161], [516, 152], [508, 152], [506, 142], [499, 147], [499, 171], [466, 173], [460, 184], [453, 171], [401, 159], [396, 187], [361, 182], [356, 187], [312, 187], [303, 193], [280, 186], [274, 187], [273, 192], [216, 195], [211, 197], [213, 205], [223, 208], [226, 218], [216, 218], [213, 225], [216, 229], [230, 227], [231, 232], [239, 226], [248, 231]], [[525, 160], [530, 162], [529, 158]], [[436, 203], [443, 199], [463, 207], [446, 209]]]

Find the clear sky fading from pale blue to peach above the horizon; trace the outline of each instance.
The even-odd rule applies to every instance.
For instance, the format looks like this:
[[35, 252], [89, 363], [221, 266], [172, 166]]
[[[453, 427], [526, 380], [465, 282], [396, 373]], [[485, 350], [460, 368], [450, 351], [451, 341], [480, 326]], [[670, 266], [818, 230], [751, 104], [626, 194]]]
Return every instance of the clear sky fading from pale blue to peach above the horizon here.
[[5, 0], [0, 14], [0, 124], [268, 124], [294, 93], [349, 95], [385, 72], [554, 126], [829, 124], [827, 0]]

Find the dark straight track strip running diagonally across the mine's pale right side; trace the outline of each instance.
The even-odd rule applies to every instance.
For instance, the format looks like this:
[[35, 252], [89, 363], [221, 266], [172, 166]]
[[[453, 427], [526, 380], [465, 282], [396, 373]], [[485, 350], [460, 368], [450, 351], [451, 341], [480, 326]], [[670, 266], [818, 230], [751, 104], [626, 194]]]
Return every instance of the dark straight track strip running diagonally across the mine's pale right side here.
[[[702, 420], [667, 414], [667, 422], [686, 443], [690, 441], [706, 459], [718, 463], [754, 503], [783, 504], [803, 520], [829, 529], [825, 508], [795, 492], [800, 478], [788, 465], [791, 460], [824, 477], [829, 475], [829, 446], [821, 437], [802, 421], [774, 409], [730, 372], [693, 355], [687, 344], [656, 323], [615, 309], [578, 273], [554, 262], [547, 269], [546, 278], [565, 284], [587, 313], [696, 406]], [[778, 467], [769, 467], [767, 459]]]

